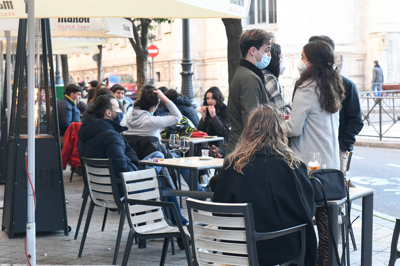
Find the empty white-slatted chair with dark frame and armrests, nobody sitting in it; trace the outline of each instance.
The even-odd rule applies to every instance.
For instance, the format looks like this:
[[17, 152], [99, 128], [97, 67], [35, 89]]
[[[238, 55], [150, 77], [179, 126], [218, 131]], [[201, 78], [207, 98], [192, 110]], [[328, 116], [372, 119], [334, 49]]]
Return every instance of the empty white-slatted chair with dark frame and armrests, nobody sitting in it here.
[[[178, 217], [173, 203], [163, 202], [164, 190], [159, 189], [158, 174], [154, 168], [120, 174], [123, 180], [126, 213], [130, 231], [122, 266], [126, 266], [134, 239], [165, 238], [160, 266], [164, 265], [168, 243], [171, 237], [182, 237], [188, 265], [191, 262], [189, 234]], [[171, 209], [178, 225], [167, 218], [166, 210]]]

